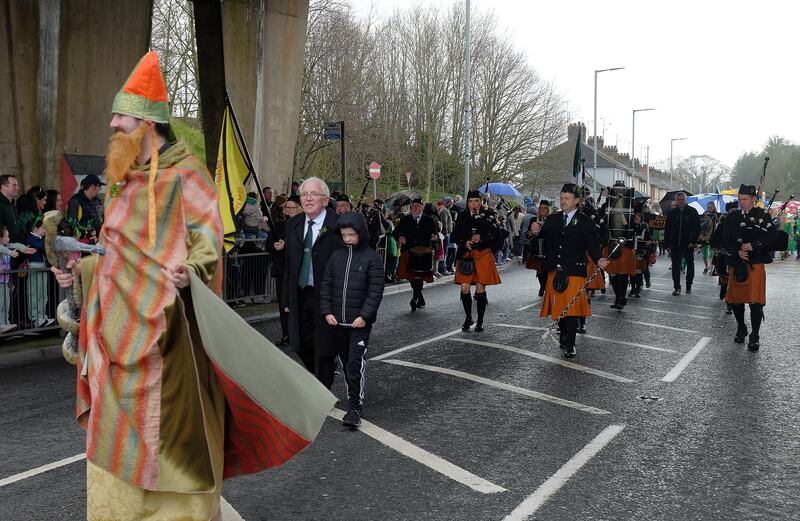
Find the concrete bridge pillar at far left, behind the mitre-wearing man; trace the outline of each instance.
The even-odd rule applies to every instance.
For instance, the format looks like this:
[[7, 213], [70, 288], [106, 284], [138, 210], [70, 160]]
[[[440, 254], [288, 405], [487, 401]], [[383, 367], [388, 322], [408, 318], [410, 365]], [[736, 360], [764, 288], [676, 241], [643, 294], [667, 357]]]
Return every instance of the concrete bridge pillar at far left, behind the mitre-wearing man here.
[[0, 174], [58, 188], [63, 153], [105, 154], [151, 13], [149, 0], [0, 0]]

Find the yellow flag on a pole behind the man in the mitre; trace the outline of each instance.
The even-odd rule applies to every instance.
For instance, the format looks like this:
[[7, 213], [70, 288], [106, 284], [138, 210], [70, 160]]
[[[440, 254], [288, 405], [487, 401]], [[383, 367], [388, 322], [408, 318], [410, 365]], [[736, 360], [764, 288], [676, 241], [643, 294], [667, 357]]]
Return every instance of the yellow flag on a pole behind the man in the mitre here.
[[247, 190], [244, 187], [250, 175], [247, 164], [236, 139], [230, 109], [225, 107], [219, 138], [217, 169], [214, 175], [214, 182], [219, 192], [219, 213], [225, 231], [225, 251], [230, 251], [236, 245], [236, 217], [244, 208], [247, 199]]

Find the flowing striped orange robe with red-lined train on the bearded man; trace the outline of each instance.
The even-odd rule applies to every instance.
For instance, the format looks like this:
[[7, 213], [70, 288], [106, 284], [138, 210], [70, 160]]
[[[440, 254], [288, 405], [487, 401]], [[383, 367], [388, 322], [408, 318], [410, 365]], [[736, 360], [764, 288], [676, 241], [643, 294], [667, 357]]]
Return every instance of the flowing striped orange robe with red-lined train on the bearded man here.
[[[82, 261], [77, 417], [94, 467], [145, 491], [218, 499], [223, 478], [279, 465], [310, 444], [334, 399], [217, 297], [222, 226], [205, 166], [181, 142], [159, 157], [152, 247], [148, 170], [110, 191], [106, 254]], [[192, 287], [177, 290], [161, 270], [184, 263]], [[295, 394], [277, 395], [263, 385], [268, 371], [310, 394], [290, 386]]]

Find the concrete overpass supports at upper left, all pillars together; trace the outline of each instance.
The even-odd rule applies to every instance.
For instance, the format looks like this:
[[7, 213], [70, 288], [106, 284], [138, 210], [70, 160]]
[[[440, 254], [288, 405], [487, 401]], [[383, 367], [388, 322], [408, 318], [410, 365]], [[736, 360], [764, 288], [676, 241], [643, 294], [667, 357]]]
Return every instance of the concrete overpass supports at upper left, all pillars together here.
[[[210, 166], [227, 87], [262, 184], [284, 189], [308, 0], [193, 3]], [[0, 174], [58, 189], [63, 154], [105, 154], [111, 102], [148, 50], [151, 15], [152, 0], [0, 0]]]

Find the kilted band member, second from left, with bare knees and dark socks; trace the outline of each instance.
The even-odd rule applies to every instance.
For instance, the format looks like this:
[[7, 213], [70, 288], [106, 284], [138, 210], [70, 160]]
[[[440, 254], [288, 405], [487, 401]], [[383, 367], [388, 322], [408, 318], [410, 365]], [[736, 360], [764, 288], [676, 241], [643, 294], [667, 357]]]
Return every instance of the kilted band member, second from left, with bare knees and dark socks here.
[[497, 225], [481, 206], [480, 192], [470, 191], [467, 194], [467, 209], [458, 213], [451, 234], [451, 240], [458, 245], [453, 282], [461, 285], [461, 304], [464, 306], [462, 331], [469, 331], [473, 324], [472, 286], [475, 286], [475, 302], [478, 306], [475, 331], [483, 331], [483, 317], [488, 304], [486, 286], [500, 284], [493, 249], [497, 238]]

